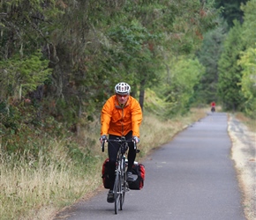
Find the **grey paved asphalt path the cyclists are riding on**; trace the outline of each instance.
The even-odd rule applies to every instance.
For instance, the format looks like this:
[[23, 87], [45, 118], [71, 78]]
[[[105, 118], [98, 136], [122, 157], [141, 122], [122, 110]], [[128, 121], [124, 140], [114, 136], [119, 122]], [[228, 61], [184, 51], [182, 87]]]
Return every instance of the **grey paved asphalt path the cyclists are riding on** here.
[[117, 215], [106, 189], [56, 219], [244, 220], [227, 127], [227, 114], [208, 114], [154, 150], [143, 189], [126, 193]]

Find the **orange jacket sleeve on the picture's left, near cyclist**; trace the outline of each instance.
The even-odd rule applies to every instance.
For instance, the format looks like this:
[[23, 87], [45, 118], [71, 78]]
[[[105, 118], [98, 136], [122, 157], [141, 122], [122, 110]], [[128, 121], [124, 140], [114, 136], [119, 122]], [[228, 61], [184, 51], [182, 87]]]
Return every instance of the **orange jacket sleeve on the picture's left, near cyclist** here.
[[102, 107], [102, 116], [101, 116], [101, 136], [102, 135], [109, 135], [109, 122], [112, 117], [110, 100], [107, 100], [105, 105]]

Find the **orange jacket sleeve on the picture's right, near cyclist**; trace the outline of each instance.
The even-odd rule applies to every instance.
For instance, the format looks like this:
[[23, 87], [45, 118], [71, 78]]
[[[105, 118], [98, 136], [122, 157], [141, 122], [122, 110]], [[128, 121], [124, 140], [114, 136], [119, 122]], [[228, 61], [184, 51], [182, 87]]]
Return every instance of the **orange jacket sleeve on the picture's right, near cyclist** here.
[[139, 102], [134, 99], [132, 105], [132, 136], [139, 137], [139, 126], [142, 121], [142, 110]]

